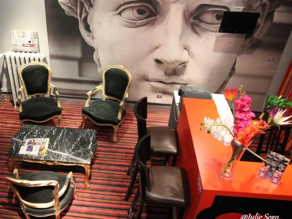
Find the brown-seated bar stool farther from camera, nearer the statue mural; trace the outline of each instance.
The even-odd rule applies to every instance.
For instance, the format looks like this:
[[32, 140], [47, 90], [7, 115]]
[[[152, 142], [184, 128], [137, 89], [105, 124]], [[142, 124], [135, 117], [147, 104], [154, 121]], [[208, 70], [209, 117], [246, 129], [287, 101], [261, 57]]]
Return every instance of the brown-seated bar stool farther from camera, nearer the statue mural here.
[[[134, 114], [137, 118], [138, 139], [146, 134], [150, 134], [151, 155], [166, 157], [166, 164], [168, 163], [169, 157], [173, 157], [172, 166], [174, 166], [176, 157], [179, 154], [179, 139], [176, 128], [166, 126], [153, 126], [147, 128], [147, 97], [143, 97], [138, 100], [134, 107]], [[134, 163], [135, 158], [133, 156], [127, 172], [127, 175], [131, 175], [131, 182], [124, 198], [125, 201], [127, 201], [129, 198], [130, 192], [132, 191], [138, 174], [138, 165], [135, 165], [134, 171], [132, 172]]]

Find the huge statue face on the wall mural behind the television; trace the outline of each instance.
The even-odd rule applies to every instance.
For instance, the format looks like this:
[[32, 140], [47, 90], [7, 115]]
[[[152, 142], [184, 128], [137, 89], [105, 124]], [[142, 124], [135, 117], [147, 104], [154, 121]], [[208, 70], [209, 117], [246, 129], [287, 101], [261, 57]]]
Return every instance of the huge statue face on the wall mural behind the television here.
[[[171, 96], [181, 85], [216, 92], [234, 74], [238, 55], [263, 35], [281, 1], [59, 0], [95, 49], [98, 71], [124, 65], [133, 77], [129, 98]], [[218, 33], [224, 11], [244, 6], [260, 18], [253, 35]]]

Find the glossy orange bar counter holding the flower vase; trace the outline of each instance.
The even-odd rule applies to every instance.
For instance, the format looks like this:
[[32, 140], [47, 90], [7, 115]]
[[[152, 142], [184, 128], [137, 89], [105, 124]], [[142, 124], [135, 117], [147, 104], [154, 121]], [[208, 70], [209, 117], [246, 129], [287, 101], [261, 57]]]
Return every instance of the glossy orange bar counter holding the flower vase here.
[[[186, 169], [191, 186], [191, 205], [186, 210], [185, 218], [196, 218], [202, 210], [211, 208], [216, 196], [220, 197], [218, 200], [242, 197], [257, 198], [261, 202], [262, 199], [292, 201], [292, 165], [287, 167], [278, 186], [257, 177], [262, 164], [256, 162], [237, 161], [233, 180], [220, 178], [218, 171], [227, 147], [213, 138], [212, 134], [207, 134], [205, 128], [200, 130], [204, 117], [219, 117], [213, 100], [184, 98], [177, 127], [181, 148], [177, 166]], [[256, 203], [256, 199], [251, 200], [248, 202]], [[253, 213], [243, 211], [233, 210], [239, 213], [234, 216], [240, 218], [243, 213]], [[265, 215], [265, 212], [261, 213]], [[230, 218], [230, 215], [226, 218]]]

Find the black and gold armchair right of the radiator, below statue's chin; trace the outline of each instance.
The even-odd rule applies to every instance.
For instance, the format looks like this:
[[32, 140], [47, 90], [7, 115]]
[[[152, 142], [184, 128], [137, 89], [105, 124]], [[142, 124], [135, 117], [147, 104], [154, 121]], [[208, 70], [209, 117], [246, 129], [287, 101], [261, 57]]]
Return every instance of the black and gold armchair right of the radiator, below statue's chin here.
[[[87, 93], [87, 101], [82, 109], [83, 126], [85, 117], [93, 123], [102, 126], [114, 127], [114, 142], [117, 141], [117, 131], [124, 120], [126, 109], [124, 107], [128, 99], [128, 89], [132, 77], [124, 66], [109, 66], [102, 72], [102, 85], [93, 88]], [[90, 103], [91, 95], [102, 90], [102, 100], [98, 99]], [[112, 98], [112, 99], [105, 99]]]

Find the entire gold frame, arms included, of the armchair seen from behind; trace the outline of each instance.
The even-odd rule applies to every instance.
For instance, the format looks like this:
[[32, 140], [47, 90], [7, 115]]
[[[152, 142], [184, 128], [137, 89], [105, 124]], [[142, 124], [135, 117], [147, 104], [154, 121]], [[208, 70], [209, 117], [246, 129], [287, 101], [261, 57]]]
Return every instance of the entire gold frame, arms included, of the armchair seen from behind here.
[[[58, 192], [59, 183], [55, 180], [39, 180], [39, 181], [20, 180], [19, 176], [18, 176], [18, 171], [16, 168], [14, 169], [13, 173], [15, 173], [15, 175], [16, 175], [15, 178], [6, 177], [5, 180], [8, 183], [11, 190], [14, 192], [15, 196], [18, 198], [18, 200], [20, 202], [20, 206], [22, 208], [23, 213], [25, 214], [26, 219], [30, 219], [30, 215], [33, 215], [33, 214], [27, 213], [25, 211], [25, 206], [28, 206], [31, 208], [50, 208], [50, 207], [54, 206], [55, 210], [56, 210], [55, 213], [48, 214], [48, 215], [41, 215], [41, 216], [37, 216], [37, 215], [33, 215], [33, 216], [43, 217], [43, 216], [55, 215], [56, 219], [60, 219], [60, 212], [63, 211], [67, 206], [63, 209], [60, 209], [59, 197], [62, 196], [62, 194], [64, 194], [64, 192], [67, 190], [67, 185], [64, 185], [62, 187], [62, 189]], [[70, 172], [67, 175], [67, 178], [70, 178], [70, 186], [74, 187], [74, 192], [72, 194], [72, 197], [73, 197], [73, 199], [77, 200], [76, 184], [73, 180], [72, 172]], [[20, 196], [20, 194], [19, 194], [18, 190], [15, 188], [14, 184], [24, 186], [24, 187], [53, 186], [54, 187], [54, 190], [53, 190], [54, 200], [51, 202], [48, 202], [48, 203], [31, 203], [31, 202], [25, 201]]]

